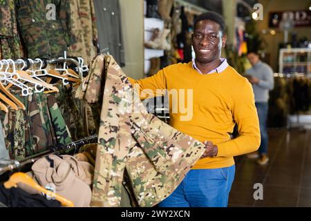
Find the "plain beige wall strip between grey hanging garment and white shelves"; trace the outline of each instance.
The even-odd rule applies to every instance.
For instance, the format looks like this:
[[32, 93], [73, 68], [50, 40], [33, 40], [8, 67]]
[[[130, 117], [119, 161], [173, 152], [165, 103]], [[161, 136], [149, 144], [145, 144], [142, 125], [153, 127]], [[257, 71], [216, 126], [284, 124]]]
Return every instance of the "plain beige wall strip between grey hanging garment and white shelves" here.
[[144, 1], [120, 0], [122, 32], [125, 50], [124, 73], [140, 79], [144, 77]]

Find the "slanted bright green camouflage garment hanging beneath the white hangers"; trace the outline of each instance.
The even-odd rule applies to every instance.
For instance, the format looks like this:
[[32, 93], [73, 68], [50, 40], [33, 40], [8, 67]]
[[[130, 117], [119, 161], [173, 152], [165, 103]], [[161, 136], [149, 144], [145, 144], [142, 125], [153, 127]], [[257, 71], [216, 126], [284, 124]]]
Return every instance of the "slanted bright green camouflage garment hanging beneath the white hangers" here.
[[73, 142], [68, 126], [64, 121], [61, 111], [59, 111], [57, 101], [55, 99], [55, 94], [49, 94], [47, 96], [47, 104], [55, 135], [57, 137], [57, 143], [69, 144]]

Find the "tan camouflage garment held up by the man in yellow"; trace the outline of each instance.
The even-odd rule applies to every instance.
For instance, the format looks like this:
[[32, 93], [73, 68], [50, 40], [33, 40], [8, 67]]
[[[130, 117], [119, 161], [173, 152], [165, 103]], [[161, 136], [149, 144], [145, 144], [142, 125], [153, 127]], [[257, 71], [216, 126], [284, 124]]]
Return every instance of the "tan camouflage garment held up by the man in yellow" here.
[[90, 103], [102, 101], [91, 205], [120, 206], [126, 173], [138, 206], [155, 206], [182, 182], [205, 145], [147, 113], [120, 66], [106, 57], [106, 69], [95, 64], [102, 69], [89, 73], [78, 92]]

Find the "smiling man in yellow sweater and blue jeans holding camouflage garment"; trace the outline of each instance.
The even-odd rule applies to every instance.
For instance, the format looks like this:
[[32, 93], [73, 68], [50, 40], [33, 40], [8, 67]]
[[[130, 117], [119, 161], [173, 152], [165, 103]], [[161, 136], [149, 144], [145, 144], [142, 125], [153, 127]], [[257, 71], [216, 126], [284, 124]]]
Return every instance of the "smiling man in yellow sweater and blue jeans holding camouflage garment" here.
[[[141, 99], [147, 97], [142, 93], [146, 90], [154, 96], [159, 95], [157, 89], [177, 91], [178, 99], [169, 100], [170, 125], [206, 144], [203, 157], [159, 206], [227, 206], [235, 173], [233, 157], [260, 145], [252, 86], [220, 57], [226, 39], [223, 17], [206, 12], [194, 23], [194, 61], [167, 66], [145, 79], [130, 79]], [[187, 113], [181, 107], [187, 107]], [[239, 136], [232, 139], [235, 124]]]

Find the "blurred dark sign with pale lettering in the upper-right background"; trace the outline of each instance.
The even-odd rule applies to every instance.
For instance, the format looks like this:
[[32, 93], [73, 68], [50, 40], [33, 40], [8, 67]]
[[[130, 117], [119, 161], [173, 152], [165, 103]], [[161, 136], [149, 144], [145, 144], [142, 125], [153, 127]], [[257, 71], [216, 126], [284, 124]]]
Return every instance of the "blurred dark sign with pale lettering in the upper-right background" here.
[[311, 11], [288, 10], [283, 12], [270, 12], [270, 28], [280, 28], [281, 21], [291, 21], [294, 27], [311, 26]]

